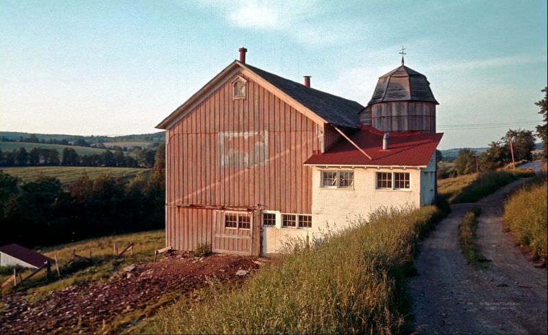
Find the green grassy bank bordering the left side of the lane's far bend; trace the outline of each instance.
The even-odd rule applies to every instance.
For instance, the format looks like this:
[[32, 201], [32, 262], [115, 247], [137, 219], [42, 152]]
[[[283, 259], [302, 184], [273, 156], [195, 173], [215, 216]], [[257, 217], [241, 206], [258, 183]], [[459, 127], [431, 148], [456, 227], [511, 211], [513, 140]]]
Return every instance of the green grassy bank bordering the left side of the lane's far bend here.
[[525, 170], [485, 172], [479, 174], [469, 185], [462, 187], [450, 201], [452, 204], [476, 202], [497, 191], [497, 189], [500, 189], [504, 185], [512, 183], [517, 178], [527, 176], [534, 176], [534, 173]]

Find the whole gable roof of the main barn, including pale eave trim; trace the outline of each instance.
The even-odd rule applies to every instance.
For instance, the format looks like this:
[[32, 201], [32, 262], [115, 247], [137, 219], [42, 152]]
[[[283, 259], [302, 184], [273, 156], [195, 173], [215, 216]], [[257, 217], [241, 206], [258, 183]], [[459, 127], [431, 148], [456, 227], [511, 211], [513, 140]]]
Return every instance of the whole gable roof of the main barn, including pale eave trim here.
[[[277, 90], [286, 94], [289, 98], [306, 109], [311, 111], [316, 116], [321, 118], [323, 122], [340, 126], [344, 128], [358, 129], [360, 124], [360, 111], [364, 109], [362, 105], [353, 100], [341, 98], [326, 92], [308, 88], [301, 83], [290, 81], [271, 72], [266, 72], [249, 64], [242, 64], [235, 60], [229, 66], [224, 68], [218, 75], [208, 81], [198, 92], [193, 94], [186, 102], [175, 109], [167, 118], [165, 118], [156, 128], [166, 129], [170, 124], [182, 116], [182, 113], [199, 101], [210, 88], [214, 88], [219, 82], [222, 82], [225, 77], [231, 75], [234, 70], [247, 70], [252, 75], [270, 83]], [[279, 98], [284, 98], [279, 96]]]

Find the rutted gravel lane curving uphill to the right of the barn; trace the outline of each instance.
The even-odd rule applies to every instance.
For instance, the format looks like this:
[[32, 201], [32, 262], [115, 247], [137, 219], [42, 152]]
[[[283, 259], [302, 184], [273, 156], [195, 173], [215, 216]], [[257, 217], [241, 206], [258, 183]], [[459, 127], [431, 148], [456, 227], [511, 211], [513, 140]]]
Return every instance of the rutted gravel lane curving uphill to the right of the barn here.
[[[421, 243], [408, 283], [414, 330], [419, 334], [547, 334], [547, 271], [534, 267], [503, 232], [504, 196], [516, 180], [475, 204], [453, 210]], [[479, 250], [493, 262], [474, 270], [458, 244], [458, 224], [473, 206], [482, 209]]]

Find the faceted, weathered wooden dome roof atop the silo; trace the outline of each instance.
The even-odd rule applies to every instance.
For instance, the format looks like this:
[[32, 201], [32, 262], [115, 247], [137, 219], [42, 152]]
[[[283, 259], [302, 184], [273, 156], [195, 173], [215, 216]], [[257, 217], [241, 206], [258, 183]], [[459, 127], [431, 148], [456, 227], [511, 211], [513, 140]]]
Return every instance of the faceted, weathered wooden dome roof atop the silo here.
[[404, 65], [379, 77], [373, 97], [367, 105], [390, 101], [425, 101], [439, 105], [426, 76]]

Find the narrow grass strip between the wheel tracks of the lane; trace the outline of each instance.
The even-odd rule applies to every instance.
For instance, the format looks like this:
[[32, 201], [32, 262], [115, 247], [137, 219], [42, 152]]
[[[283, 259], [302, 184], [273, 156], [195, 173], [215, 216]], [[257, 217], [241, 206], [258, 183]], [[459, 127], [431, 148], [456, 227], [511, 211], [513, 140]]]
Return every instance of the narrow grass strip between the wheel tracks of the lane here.
[[464, 254], [464, 258], [472, 265], [474, 269], [486, 269], [488, 267], [488, 259], [477, 250], [475, 244], [477, 230], [477, 217], [481, 214], [481, 210], [473, 208], [464, 215], [462, 222], [458, 225], [459, 236], [458, 241], [460, 250]]

